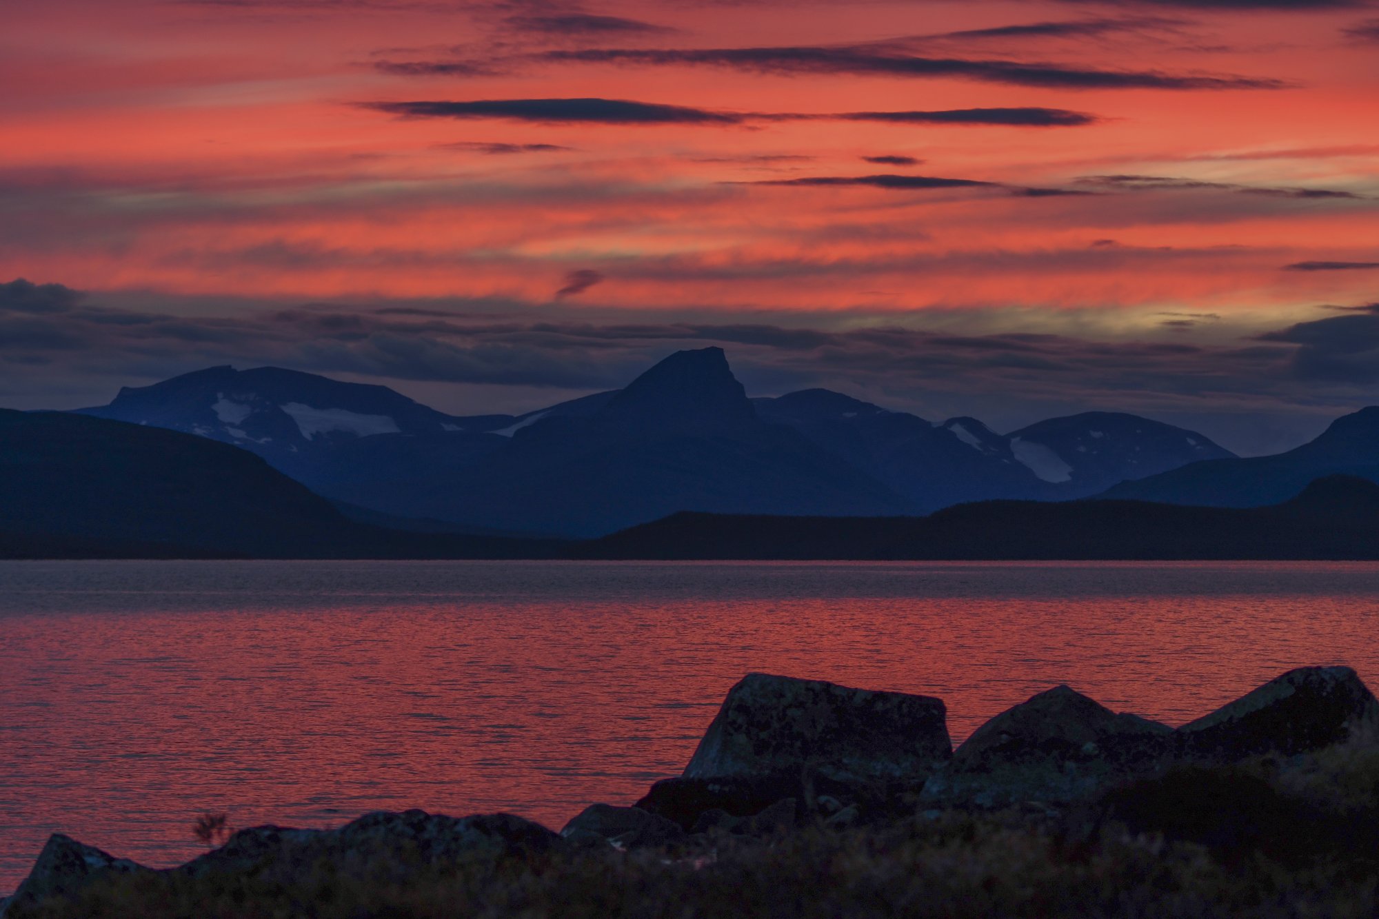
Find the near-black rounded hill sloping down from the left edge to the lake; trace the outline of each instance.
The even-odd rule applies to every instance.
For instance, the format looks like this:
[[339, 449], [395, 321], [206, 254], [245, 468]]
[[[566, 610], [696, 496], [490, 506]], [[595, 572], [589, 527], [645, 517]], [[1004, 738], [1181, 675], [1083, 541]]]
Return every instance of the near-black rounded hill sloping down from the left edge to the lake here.
[[509, 545], [356, 523], [259, 457], [205, 437], [0, 410], [6, 557], [458, 557]]

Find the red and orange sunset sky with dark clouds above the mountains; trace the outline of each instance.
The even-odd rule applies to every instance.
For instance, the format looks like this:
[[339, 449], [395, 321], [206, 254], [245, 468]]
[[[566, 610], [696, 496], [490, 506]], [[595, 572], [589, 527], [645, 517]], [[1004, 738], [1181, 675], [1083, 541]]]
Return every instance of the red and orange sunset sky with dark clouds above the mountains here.
[[0, 406], [214, 364], [525, 411], [723, 346], [1241, 453], [1379, 403], [1367, 0], [46, 0]]

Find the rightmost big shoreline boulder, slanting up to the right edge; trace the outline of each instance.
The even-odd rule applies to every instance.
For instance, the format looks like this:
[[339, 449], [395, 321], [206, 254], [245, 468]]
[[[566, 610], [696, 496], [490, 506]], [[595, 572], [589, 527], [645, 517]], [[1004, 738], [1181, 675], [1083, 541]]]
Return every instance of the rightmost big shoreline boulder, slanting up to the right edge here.
[[1303, 666], [1179, 727], [1179, 752], [1227, 763], [1266, 753], [1294, 756], [1375, 727], [1379, 701], [1353, 669]]

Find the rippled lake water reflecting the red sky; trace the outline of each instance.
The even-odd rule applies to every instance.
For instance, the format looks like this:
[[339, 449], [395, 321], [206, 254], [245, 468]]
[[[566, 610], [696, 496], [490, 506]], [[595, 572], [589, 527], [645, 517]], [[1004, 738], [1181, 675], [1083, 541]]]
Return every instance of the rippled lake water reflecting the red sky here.
[[954, 740], [1067, 682], [1190, 720], [1302, 664], [1379, 686], [1379, 566], [0, 563], [0, 891], [61, 831], [554, 828], [678, 773], [743, 673], [939, 695]]

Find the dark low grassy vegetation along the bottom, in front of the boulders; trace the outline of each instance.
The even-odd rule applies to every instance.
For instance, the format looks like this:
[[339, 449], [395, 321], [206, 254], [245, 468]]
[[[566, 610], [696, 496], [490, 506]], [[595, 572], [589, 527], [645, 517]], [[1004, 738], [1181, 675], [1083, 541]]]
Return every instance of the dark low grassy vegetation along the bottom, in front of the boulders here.
[[[1357, 738], [1365, 741], [1368, 738]], [[1081, 804], [805, 821], [669, 849], [112, 878], [23, 915], [277, 919], [1379, 915], [1379, 745], [1179, 769]]]

